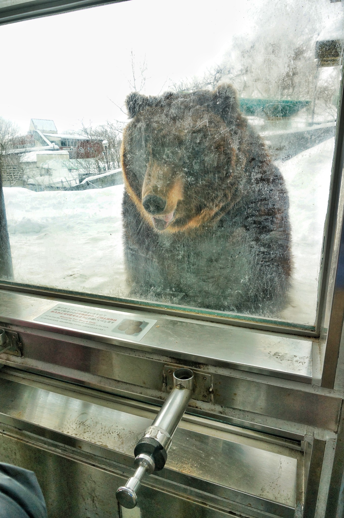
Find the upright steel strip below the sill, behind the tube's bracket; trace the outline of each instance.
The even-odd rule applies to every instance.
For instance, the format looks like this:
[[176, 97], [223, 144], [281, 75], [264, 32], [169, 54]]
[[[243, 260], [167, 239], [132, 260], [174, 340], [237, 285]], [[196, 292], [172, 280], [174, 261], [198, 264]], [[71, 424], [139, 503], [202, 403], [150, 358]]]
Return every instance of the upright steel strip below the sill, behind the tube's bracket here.
[[[14, 326], [16, 327], [16, 326]], [[20, 327], [16, 327], [20, 329]], [[8, 365], [46, 372], [59, 379], [102, 387], [127, 397], [145, 398], [161, 404], [163, 367], [172, 358], [111, 344], [85, 341], [26, 328], [19, 332], [23, 358], [2, 355]], [[49, 362], [49, 363], [48, 363]], [[176, 361], [173, 360], [172, 368]], [[183, 366], [183, 363], [181, 363]], [[187, 362], [186, 366], [211, 375], [211, 402], [192, 402], [193, 412], [223, 419], [234, 408], [336, 431], [341, 398], [300, 383], [283, 386], [278, 380], [247, 379], [243, 372], [226, 375], [222, 369]], [[202, 370], [199, 369], [202, 367]], [[218, 372], [220, 370], [220, 372]], [[84, 373], [85, 374], [84, 374]], [[233, 371], [230, 371], [233, 373]], [[256, 375], [251, 375], [256, 376]], [[257, 376], [256, 376], [257, 378]], [[202, 396], [202, 395], [201, 395]]]

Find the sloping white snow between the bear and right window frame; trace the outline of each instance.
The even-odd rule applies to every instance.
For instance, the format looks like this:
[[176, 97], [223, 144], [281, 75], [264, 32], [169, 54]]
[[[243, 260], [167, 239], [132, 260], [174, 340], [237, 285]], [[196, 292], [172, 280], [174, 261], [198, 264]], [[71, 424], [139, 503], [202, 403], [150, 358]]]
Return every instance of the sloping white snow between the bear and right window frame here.
[[313, 324], [324, 223], [330, 191], [334, 138], [277, 163], [286, 180], [290, 200], [293, 285], [290, 306], [281, 318]]

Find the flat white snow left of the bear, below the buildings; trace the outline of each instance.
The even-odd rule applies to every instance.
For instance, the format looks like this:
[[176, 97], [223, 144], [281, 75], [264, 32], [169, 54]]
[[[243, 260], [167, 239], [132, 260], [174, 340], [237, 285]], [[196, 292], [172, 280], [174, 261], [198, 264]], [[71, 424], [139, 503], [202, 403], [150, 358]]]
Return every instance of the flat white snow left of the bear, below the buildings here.
[[4, 195], [16, 282], [126, 296], [123, 185]]

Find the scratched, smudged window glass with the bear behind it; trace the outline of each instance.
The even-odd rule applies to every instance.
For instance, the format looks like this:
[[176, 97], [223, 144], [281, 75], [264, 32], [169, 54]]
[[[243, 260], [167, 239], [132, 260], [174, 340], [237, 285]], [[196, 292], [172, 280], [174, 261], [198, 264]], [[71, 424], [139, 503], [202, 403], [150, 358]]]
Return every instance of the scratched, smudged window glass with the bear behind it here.
[[131, 0], [0, 27], [2, 279], [312, 326], [343, 21]]

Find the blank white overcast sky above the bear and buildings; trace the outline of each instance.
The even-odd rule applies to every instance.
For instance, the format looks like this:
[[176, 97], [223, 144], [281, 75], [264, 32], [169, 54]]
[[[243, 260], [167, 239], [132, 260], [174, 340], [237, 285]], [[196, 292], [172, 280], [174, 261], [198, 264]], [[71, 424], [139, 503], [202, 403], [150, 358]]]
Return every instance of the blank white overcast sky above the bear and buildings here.
[[31, 118], [59, 132], [125, 120], [114, 103], [131, 91], [131, 51], [158, 94], [218, 63], [263, 1], [130, 0], [1, 26], [0, 115], [25, 133]]

